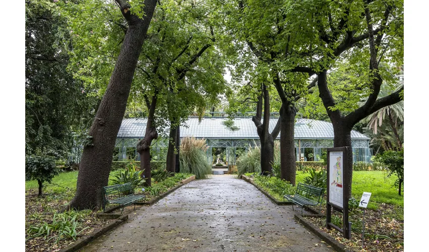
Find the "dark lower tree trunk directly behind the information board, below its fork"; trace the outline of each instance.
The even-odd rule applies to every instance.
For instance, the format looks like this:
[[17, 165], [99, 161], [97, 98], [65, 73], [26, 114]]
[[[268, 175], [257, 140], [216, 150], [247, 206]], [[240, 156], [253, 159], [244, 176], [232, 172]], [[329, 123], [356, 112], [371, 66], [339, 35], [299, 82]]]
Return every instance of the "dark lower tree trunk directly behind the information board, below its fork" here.
[[[332, 121], [334, 127], [334, 147], [348, 147], [347, 163], [349, 164], [348, 177], [344, 176], [347, 181], [349, 192], [352, 190], [352, 177], [353, 177], [353, 152], [352, 152], [352, 139], [350, 127], [343, 122], [343, 120]], [[347, 198], [350, 198], [348, 195]]]

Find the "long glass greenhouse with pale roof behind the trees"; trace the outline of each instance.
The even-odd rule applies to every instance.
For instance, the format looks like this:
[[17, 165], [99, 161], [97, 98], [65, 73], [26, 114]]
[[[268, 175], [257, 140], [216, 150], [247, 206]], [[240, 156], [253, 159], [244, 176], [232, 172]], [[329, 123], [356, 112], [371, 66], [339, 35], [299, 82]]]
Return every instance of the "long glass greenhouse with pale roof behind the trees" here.
[[[180, 126], [180, 138], [204, 138], [207, 141], [207, 160], [216, 164], [216, 153], [223, 151], [221, 160], [226, 165], [234, 165], [237, 153], [242, 153], [249, 146], [260, 145], [256, 127], [249, 117], [234, 118], [234, 127], [224, 124], [229, 120], [224, 117], [188, 118]], [[270, 132], [274, 129], [278, 118], [270, 118]], [[146, 118], [127, 118], [122, 121], [116, 140], [116, 154], [118, 160], [140, 160], [136, 151], [139, 139], [144, 137]], [[158, 130], [161, 138], [153, 142], [152, 158], [165, 160], [168, 141], [163, 138], [169, 135], [168, 127]], [[369, 138], [357, 131], [351, 132], [353, 161], [370, 162], [372, 154], [369, 148]], [[277, 137], [280, 139], [280, 134]], [[324, 149], [334, 146], [334, 130], [331, 122], [299, 118], [295, 123], [295, 152], [296, 161], [319, 161]], [[116, 155], [115, 154], [115, 155]], [[219, 156], [219, 155], [218, 155]], [[115, 158], [116, 159], [116, 158]]]

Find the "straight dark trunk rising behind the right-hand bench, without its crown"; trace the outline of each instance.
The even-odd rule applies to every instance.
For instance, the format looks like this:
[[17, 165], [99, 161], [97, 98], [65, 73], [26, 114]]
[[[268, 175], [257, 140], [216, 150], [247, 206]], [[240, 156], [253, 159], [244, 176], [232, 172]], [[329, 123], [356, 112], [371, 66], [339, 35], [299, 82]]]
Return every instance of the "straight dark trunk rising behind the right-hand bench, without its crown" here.
[[280, 175], [282, 179], [295, 185], [296, 157], [295, 157], [295, 107], [283, 104], [280, 110]]

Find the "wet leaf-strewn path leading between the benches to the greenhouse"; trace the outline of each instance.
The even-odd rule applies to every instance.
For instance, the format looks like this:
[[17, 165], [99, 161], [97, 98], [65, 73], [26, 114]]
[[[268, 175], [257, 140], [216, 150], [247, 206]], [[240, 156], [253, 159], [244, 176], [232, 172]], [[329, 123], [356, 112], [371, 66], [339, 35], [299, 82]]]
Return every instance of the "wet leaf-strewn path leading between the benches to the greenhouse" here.
[[244, 180], [213, 175], [130, 213], [81, 251], [333, 251], [293, 215]]

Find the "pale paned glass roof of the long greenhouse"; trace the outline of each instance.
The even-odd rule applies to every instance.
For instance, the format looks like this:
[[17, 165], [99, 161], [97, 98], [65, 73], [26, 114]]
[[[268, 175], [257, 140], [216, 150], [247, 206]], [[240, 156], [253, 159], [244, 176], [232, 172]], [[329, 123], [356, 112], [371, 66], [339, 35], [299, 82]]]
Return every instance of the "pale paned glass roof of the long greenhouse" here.
[[[235, 118], [234, 126], [239, 129], [232, 131], [222, 122], [227, 118], [205, 117], [188, 118], [180, 127], [180, 137], [193, 136], [206, 139], [259, 139], [255, 124], [251, 118]], [[270, 132], [273, 131], [278, 118], [270, 118]], [[127, 118], [122, 120], [118, 138], [143, 138], [146, 131], [147, 118]], [[168, 136], [168, 128], [164, 131]], [[161, 133], [161, 132], [158, 132]], [[277, 137], [280, 138], [280, 134]], [[351, 132], [352, 139], [369, 139], [357, 132]], [[295, 139], [334, 139], [331, 122], [313, 119], [297, 119], [295, 123]]]

